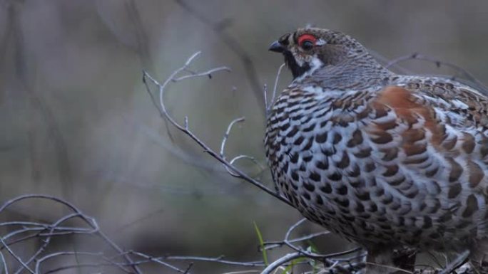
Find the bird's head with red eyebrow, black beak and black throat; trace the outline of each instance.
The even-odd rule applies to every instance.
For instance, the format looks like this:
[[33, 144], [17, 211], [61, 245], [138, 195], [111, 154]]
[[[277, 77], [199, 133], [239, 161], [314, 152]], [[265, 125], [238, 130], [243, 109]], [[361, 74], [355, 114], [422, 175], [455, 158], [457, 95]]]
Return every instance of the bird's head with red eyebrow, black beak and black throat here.
[[367, 54], [364, 46], [339, 31], [299, 28], [271, 43], [270, 51], [283, 53], [293, 78], [310, 75], [324, 66], [343, 65]]

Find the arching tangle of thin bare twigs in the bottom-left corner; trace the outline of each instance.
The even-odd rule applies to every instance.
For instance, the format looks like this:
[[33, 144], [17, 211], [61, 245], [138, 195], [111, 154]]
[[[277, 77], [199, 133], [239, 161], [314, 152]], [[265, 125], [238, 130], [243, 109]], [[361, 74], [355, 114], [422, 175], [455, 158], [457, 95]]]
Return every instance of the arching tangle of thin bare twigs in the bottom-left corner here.
[[[49, 201], [51, 204], [63, 206], [64, 211], [68, 211], [66, 215], [61, 216], [56, 221], [49, 223], [47, 221], [24, 221], [13, 220], [0, 223], [0, 228], [4, 228], [6, 234], [0, 236], [0, 259], [4, 265], [4, 271], [9, 273], [9, 269], [14, 269], [14, 263], [9, 263], [12, 260], [18, 263], [18, 267], [13, 273], [19, 274], [28, 271], [31, 274], [39, 273], [56, 273], [61, 270], [71, 268], [101, 268], [111, 267], [118, 268], [124, 273], [143, 274], [138, 267], [140, 262], [134, 260], [133, 256], [123, 251], [111, 238], [100, 230], [98, 223], [94, 218], [83, 214], [73, 204], [63, 199], [54, 196], [29, 194], [16, 197], [6, 201], [0, 207], [0, 214], [3, 214], [11, 206], [21, 203], [26, 200], [43, 200]], [[80, 222], [80, 226], [70, 226], [66, 223]], [[98, 251], [53, 251], [51, 243], [54, 240], [61, 240], [66, 236], [89, 236], [96, 238], [98, 243], [101, 243], [103, 248]], [[37, 241], [39, 248], [32, 254], [25, 254], [23, 252], [24, 246], [30, 240]], [[101, 250], [106, 250], [102, 252]], [[7, 254], [4, 254], [6, 252]], [[73, 265], [62, 265], [49, 268], [48, 262], [55, 258], [81, 258], [85, 262], [79, 262]], [[65, 259], [66, 260], [66, 259]], [[182, 270], [174, 265], [165, 262], [157, 262], [171, 270], [179, 273], [188, 273], [188, 270]], [[44, 266], [48, 270], [43, 270]]]

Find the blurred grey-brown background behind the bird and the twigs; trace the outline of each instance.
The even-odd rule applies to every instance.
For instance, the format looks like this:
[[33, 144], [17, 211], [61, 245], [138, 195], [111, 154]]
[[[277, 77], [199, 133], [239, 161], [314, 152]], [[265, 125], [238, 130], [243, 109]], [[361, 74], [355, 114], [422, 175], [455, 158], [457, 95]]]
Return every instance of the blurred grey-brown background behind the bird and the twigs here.
[[[171, 85], [168, 108], [178, 121], [188, 115], [217, 150], [228, 123], [245, 116], [228, 157], [249, 154], [265, 166], [261, 90], [283, 62], [268, 45], [309, 23], [348, 33], [385, 60], [423, 53], [488, 83], [484, 0], [0, 0], [0, 201], [63, 197], [124, 248], [153, 255], [259, 260], [253, 221], [265, 239], [279, 240], [300, 215], [166, 127], [142, 70], [163, 81], [195, 51], [202, 54], [192, 68], [232, 68]], [[452, 73], [418, 60], [405, 67]], [[278, 90], [289, 82], [287, 71]], [[268, 170], [240, 167], [272, 186]], [[48, 220], [55, 213], [9, 211]], [[317, 245], [340, 251], [343, 243], [330, 236]], [[198, 264], [194, 272], [231, 269]]]

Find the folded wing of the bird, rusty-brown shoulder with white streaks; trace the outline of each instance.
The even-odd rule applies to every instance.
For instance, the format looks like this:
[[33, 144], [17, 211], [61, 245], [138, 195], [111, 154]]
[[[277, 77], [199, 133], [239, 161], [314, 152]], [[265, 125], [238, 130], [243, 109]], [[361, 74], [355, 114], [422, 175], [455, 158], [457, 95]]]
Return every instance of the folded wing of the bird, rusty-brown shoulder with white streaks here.
[[392, 191], [425, 204], [432, 220], [486, 233], [488, 100], [451, 84], [389, 86], [370, 102], [364, 131]]

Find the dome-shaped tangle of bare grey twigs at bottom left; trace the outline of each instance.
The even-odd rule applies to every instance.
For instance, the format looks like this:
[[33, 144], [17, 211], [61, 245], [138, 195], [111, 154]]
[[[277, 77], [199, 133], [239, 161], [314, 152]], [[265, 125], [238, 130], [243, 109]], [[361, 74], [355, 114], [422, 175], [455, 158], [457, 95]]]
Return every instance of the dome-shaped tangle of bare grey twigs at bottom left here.
[[[60, 270], [69, 269], [69, 268], [79, 268], [79, 267], [101, 267], [103, 265], [111, 265], [113, 267], [120, 268], [124, 270], [126, 273], [138, 273], [142, 274], [142, 271], [138, 268], [138, 264], [136, 263], [128, 253], [123, 251], [116, 243], [114, 243], [108, 236], [103, 233], [96, 223], [95, 219], [84, 215], [79, 209], [76, 208], [73, 204], [64, 201], [63, 199], [56, 198], [54, 196], [48, 195], [41, 195], [41, 194], [28, 194], [23, 196], [18, 196], [14, 199], [6, 201], [3, 205], [0, 206], [0, 214], [3, 213], [6, 209], [13, 206], [14, 204], [24, 201], [24, 200], [32, 200], [32, 199], [44, 199], [46, 201], [54, 202], [54, 204], [61, 204], [66, 209], [68, 209], [68, 214], [61, 216], [53, 223], [42, 223], [39, 221], [22, 221], [22, 220], [9, 220], [6, 222], [0, 223], [0, 227], [5, 228], [14, 228], [13, 231], [6, 233], [4, 236], [0, 236], [0, 243], [1, 249], [5, 249], [11, 258], [14, 258], [19, 264], [20, 267], [15, 271], [15, 273], [22, 273], [25, 271], [29, 271], [31, 274], [40, 274], [41, 273], [41, 265], [45, 263], [46, 260], [51, 258], [56, 258], [59, 256], [73, 256], [77, 258], [79, 255], [83, 256], [91, 256], [96, 258], [97, 260], [102, 260], [101, 263], [77, 263], [76, 265], [64, 265], [59, 268], [54, 268], [51, 270], [46, 271], [45, 273], [54, 273]], [[61, 226], [62, 223], [65, 223], [68, 220], [76, 219], [83, 223], [83, 226], [79, 227], [71, 227], [71, 226]], [[7, 229], [9, 231], [9, 229]], [[24, 236], [27, 234], [26, 236]], [[92, 251], [58, 251], [54, 253], [49, 253], [49, 246], [51, 241], [54, 237], [58, 236], [66, 236], [66, 235], [77, 235], [83, 234], [88, 236], [93, 236], [98, 239], [101, 239], [106, 246], [118, 253], [119, 258], [123, 260], [123, 262], [118, 262], [109, 260], [106, 258], [103, 253], [100, 251], [92, 252]], [[11, 248], [11, 245], [14, 244], [21, 244], [30, 239], [39, 239], [40, 246], [36, 249], [36, 251], [29, 255], [28, 258], [22, 258], [23, 255], [19, 255], [16, 253], [14, 249]], [[1, 253], [0, 249], [0, 258], [6, 264], [7, 260], [4, 258], [4, 254]], [[154, 262], [154, 261], [153, 261]], [[187, 270], [181, 270], [176, 268], [175, 266], [157, 261], [158, 265], [163, 265], [166, 268], [171, 268], [172, 270], [176, 270], [180, 273], [188, 273], [189, 268]], [[34, 268], [30, 265], [34, 264]], [[6, 271], [9, 270], [8, 265], [4, 265]], [[8, 272], [6, 272], [8, 273]]]

